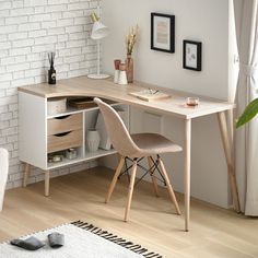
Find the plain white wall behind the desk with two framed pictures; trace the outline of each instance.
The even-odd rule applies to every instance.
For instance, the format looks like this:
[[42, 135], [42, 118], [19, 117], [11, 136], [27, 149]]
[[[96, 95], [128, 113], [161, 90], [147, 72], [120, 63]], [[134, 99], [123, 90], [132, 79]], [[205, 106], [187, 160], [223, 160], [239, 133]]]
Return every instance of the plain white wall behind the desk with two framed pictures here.
[[[150, 13], [176, 16], [176, 50], [164, 54], [150, 49]], [[133, 54], [137, 80], [221, 99], [228, 97], [228, 1], [227, 0], [108, 0], [103, 2], [103, 21], [110, 35], [103, 45], [103, 68], [113, 73], [113, 60], [126, 57], [125, 35], [139, 24], [140, 40]], [[202, 71], [183, 69], [183, 39], [202, 42]], [[133, 131], [143, 128], [144, 114], [133, 113]], [[162, 133], [183, 143], [183, 124], [164, 117]], [[179, 122], [179, 124], [178, 124]], [[183, 191], [183, 154], [166, 159], [174, 164], [174, 185]], [[192, 196], [227, 207], [226, 164], [216, 117], [203, 117], [192, 124]], [[171, 171], [171, 169], [169, 169]]]

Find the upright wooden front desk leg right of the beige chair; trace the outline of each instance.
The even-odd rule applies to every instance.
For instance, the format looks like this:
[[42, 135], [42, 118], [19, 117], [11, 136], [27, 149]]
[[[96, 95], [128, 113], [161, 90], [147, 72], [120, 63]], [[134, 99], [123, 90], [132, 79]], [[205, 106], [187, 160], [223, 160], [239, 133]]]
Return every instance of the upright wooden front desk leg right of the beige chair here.
[[185, 121], [185, 231], [190, 220], [191, 119]]

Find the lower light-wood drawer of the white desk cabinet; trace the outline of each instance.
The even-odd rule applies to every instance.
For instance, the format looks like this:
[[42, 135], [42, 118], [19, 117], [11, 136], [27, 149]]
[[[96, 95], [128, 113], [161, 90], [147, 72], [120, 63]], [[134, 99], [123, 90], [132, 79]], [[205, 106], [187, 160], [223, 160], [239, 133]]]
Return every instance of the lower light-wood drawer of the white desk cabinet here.
[[47, 137], [47, 153], [82, 145], [82, 129]]

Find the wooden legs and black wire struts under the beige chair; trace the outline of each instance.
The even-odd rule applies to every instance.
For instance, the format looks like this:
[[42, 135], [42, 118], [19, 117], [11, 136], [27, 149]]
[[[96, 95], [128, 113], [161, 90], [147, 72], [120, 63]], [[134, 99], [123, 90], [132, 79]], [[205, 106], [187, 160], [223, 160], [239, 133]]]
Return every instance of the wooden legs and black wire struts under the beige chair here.
[[[169, 197], [171, 197], [171, 199], [173, 201], [173, 204], [174, 204], [174, 207], [176, 209], [176, 213], [178, 215], [180, 215], [180, 209], [179, 209], [179, 206], [177, 203], [175, 192], [174, 192], [174, 190], [172, 188], [172, 185], [171, 185], [171, 181], [169, 181], [169, 178], [168, 178], [168, 175], [166, 173], [166, 169], [165, 169], [165, 166], [163, 164], [162, 159], [160, 157], [160, 155], [157, 155], [156, 160], [154, 160], [152, 156], [148, 156], [149, 169], [140, 164], [140, 162], [143, 159], [144, 157], [130, 159], [128, 156], [121, 156], [121, 159], [119, 161], [119, 164], [117, 166], [116, 173], [115, 173], [115, 175], [113, 177], [110, 187], [108, 189], [107, 196], [106, 196], [106, 203], [109, 201], [109, 199], [112, 197], [112, 194], [113, 194], [114, 188], [116, 186], [117, 179], [119, 179], [122, 175], [126, 174], [127, 177], [128, 177], [128, 180], [129, 180], [127, 206], [126, 206], [126, 212], [125, 212], [125, 221], [127, 222], [128, 221], [128, 216], [129, 216], [130, 206], [131, 206], [133, 187], [137, 186], [148, 174], [150, 174], [151, 178], [152, 178], [153, 188], [154, 188], [156, 197], [159, 197], [156, 180], [160, 180], [160, 181], [162, 181], [164, 184], [164, 186], [166, 186], [166, 188], [168, 190], [168, 194], [169, 194]], [[130, 162], [132, 164], [128, 165], [128, 162]], [[122, 171], [124, 165], [126, 167], [125, 171]], [[144, 174], [136, 183], [137, 167], [141, 168], [142, 171], [144, 171]], [[129, 174], [129, 171], [131, 171], [131, 176]], [[154, 175], [155, 172], [159, 173], [161, 178]]]

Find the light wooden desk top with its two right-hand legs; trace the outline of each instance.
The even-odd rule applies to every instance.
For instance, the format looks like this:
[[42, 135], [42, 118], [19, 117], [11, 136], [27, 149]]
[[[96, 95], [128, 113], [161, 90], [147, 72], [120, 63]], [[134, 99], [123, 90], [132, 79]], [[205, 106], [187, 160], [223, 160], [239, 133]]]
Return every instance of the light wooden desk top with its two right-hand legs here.
[[[128, 93], [138, 92], [145, 87], [159, 89], [172, 94], [172, 98], [154, 102], [144, 102], [137, 97], [130, 96]], [[222, 142], [224, 146], [227, 173], [231, 183], [234, 208], [239, 212], [239, 201], [235, 180], [232, 141], [226, 121], [227, 110], [234, 108], [234, 104], [200, 97], [200, 105], [197, 108], [185, 107], [184, 103], [187, 93], [161, 89], [146, 83], [137, 82], [127, 86], [114, 84], [112, 80], [90, 80], [86, 77], [72, 78], [61, 80], [56, 86], [49, 86], [47, 83], [19, 87], [20, 92], [37, 95], [39, 97], [49, 98], [58, 96], [98, 96], [131, 106], [140, 107], [155, 113], [169, 116], [176, 116], [185, 120], [185, 231], [189, 230], [190, 214], [190, 164], [191, 164], [191, 119], [218, 114], [219, 126], [221, 129]]]

